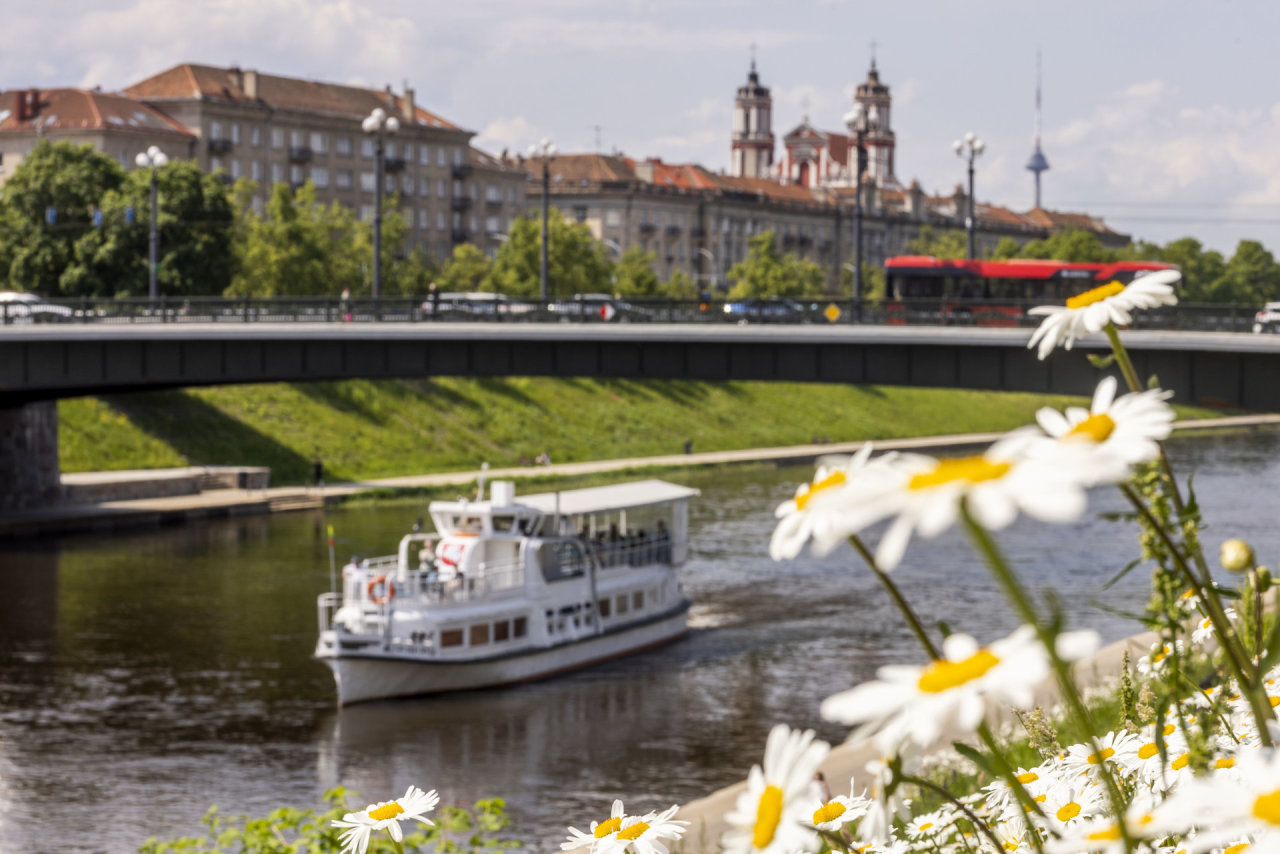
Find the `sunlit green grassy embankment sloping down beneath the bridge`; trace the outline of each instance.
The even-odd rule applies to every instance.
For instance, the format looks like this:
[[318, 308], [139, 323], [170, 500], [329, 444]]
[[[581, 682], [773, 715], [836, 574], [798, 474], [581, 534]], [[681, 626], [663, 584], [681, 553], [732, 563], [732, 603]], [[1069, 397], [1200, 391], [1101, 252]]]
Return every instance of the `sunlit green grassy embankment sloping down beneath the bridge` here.
[[[794, 383], [349, 380], [59, 403], [63, 471], [261, 465], [273, 484], [1006, 430], [1036, 394]], [[1074, 402], [1079, 403], [1078, 399]], [[1187, 408], [1184, 417], [1211, 416]]]

